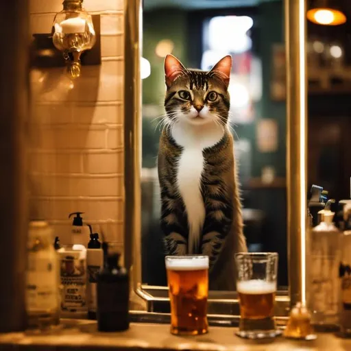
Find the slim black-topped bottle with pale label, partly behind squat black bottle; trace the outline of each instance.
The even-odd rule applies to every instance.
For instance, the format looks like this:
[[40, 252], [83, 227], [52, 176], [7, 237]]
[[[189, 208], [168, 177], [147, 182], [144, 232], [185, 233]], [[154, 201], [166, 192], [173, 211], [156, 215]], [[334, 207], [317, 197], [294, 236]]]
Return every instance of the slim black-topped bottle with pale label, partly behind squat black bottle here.
[[86, 250], [86, 269], [88, 274], [88, 280], [86, 282], [86, 301], [88, 302], [88, 318], [96, 319], [96, 276], [104, 263], [104, 253], [101, 249], [99, 234], [93, 233], [90, 224], [88, 224], [88, 227], [91, 233], [88, 249]]

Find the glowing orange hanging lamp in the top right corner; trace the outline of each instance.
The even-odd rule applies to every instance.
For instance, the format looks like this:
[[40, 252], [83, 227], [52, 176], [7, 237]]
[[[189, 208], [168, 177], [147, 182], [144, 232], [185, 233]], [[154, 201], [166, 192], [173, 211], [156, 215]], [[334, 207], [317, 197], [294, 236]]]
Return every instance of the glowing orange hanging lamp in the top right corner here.
[[346, 16], [333, 0], [311, 1], [307, 11], [307, 19], [317, 25], [342, 25], [346, 22]]

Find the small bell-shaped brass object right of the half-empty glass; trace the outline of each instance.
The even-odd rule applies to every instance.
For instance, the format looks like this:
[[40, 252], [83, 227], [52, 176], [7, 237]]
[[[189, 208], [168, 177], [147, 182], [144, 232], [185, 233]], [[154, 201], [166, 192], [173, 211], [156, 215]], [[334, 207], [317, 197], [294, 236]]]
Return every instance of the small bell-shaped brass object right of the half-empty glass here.
[[287, 328], [283, 336], [290, 339], [317, 339], [313, 327], [311, 326], [311, 314], [302, 302], [298, 302], [291, 309]]

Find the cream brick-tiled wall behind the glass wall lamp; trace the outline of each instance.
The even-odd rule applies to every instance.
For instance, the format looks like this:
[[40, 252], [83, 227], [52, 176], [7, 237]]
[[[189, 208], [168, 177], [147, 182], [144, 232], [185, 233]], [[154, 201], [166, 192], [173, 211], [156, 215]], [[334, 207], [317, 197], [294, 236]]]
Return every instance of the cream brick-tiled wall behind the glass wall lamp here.
[[[32, 33], [49, 33], [62, 1], [31, 0]], [[101, 66], [32, 71], [30, 212], [69, 241], [73, 211], [123, 250], [123, 0], [85, 0], [101, 14]], [[86, 238], [88, 241], [88, 238]]]

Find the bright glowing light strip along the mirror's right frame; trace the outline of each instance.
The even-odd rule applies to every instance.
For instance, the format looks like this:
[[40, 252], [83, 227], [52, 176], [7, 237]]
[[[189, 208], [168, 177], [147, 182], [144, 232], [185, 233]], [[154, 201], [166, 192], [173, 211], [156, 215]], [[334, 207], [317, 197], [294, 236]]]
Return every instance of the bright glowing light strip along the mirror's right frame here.
[[300, 66], [300, 125], [301, 125], [301, 134], [300, 134], [300, 208], [301, 208], [301, 273], [302, 273], [302, 291], [301, 291], [301, 302], [306, 303], [306, 159], [305, 159], [305, 150], [306, 150], [306, 66], [305, 66], [305, 54], [306, 54], [306, 21], [304, 13], [304, 1], [300, 1], [300, 12], [299, 12], [299, 21], [300, 23], [300, 38], [299, 38], [299, 66]]

